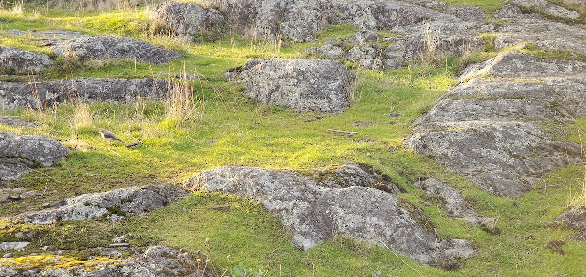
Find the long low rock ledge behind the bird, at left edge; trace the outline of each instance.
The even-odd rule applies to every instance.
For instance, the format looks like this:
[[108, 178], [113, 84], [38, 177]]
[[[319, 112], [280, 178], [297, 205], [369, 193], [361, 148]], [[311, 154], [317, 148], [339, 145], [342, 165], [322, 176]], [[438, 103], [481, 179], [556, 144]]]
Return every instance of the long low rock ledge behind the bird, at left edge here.
[[74, 78], [61, 81], [0, 82], [0, 108], [45, 108], [64, 102], [128, 103], [137, 97], [167, 98], [175, 83], [157, 79]]

